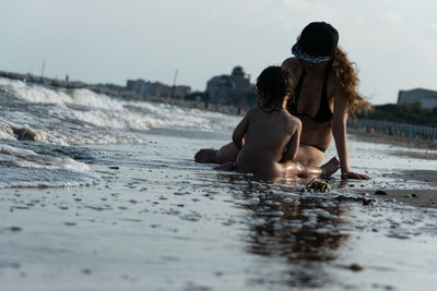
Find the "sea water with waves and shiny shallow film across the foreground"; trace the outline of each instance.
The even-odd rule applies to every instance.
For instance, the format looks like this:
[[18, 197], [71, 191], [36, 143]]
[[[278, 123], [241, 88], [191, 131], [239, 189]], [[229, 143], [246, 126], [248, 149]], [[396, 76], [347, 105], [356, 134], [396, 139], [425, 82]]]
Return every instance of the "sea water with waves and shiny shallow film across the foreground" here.
[[433, 190], [403, 172], [435, 160], [351, 138], [354, 170], [373, 180], [352, 189], [335, 173], [311, 193], [193, 162], [240, 117], [5, 78], [0, 95], [0, 290], [437, 283], [437, 211], [356, 192]]

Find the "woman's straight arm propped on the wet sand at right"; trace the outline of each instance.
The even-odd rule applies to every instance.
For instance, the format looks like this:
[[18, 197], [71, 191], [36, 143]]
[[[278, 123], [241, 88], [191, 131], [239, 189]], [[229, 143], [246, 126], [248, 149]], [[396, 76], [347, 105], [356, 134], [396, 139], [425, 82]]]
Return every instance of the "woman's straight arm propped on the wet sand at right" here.
[[332, 134], [335, 140], [336, 153], [339, 154], [341, 163], [341, 177], [343, 179], [370, 179], [368, 175], [358, 174], [351, 171], [349, 163], [349, 149], [347, 149], [347, 99], [342, 92], [335, 94], [334, 97], [334, 112], [332, 116]]

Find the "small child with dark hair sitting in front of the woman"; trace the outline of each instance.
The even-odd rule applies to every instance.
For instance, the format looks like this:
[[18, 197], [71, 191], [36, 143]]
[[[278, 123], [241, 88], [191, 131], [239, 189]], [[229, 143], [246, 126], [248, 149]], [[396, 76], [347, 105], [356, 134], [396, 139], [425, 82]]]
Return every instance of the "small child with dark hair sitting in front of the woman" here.
[[233, 133], [239, 149], [235, 163], [214, 169], [251, 172], [262, 177], [329, 177], [340, 163], [332, 158], [320, 168], [305, 167], [296, 157], [300, 141], [300, 120], [286, 110], [292, 98], [292, 81], [281, 66], [269, 66], [257, 80], [258, 106], [249, 110]]

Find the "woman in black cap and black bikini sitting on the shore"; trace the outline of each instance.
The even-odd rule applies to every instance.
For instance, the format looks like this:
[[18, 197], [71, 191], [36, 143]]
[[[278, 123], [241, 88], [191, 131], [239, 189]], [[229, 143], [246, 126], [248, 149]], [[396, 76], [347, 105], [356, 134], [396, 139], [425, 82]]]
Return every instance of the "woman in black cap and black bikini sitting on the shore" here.
[[[296, 81], [295, 98], [288, 111], [303, 124], [299, 149], [295, 160], [317, 167], [324, 158], [332, 136], [341, 163], [343, 179], [369, 179], [351, 170], [349, 161], [346, 120], [362, 107], [368, 107], [356, 92], [357, 73], [346, 54], [338, 48], [339, 33], [326, 22], [312, 22], [302, 32], [282, 66]], [[201, 149], [199, 162], [234, 161], [238, 155], [233, 144], [220, 150]]]

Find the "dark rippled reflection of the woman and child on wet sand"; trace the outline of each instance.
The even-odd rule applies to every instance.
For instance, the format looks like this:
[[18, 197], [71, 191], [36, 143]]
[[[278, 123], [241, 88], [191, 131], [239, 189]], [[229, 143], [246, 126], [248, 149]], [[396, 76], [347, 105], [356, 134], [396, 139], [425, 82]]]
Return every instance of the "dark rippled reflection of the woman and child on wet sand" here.
[[244, 219], [249, 226], [249, 233], [243, 239], [247, 252], [290, 265], [286, 274], [272, 276], [271, 281], [256, 279], [253, 283], [310, 288], [330, 282], [323, 262], [334, 260], [349, 237], [340, 231], [341, 225], [346, 223], [342, 220], [341, 202], [303, 191], [308, 179], [220, 177], [233, 190], [239, 190], [239, 207], [250, 210]]

